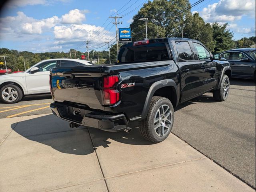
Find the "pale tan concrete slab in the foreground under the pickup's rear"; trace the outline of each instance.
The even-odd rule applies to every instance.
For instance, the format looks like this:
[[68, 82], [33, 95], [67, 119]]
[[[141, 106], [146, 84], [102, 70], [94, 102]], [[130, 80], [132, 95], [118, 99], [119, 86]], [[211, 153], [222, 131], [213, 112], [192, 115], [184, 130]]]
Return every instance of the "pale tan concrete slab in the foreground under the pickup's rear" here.
[[52, 114], [0, 119], [0, 192], [254, 191], [170, 134], [70, 129]]

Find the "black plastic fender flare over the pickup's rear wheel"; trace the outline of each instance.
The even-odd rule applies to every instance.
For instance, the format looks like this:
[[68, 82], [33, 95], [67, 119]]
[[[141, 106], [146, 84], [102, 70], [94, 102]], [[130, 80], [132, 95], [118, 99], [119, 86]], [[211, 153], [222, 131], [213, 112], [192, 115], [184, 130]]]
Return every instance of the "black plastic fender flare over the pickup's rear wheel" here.
[[[130, 118], [130, 121], [142, 120], [142, 119], [146, 118], [148, 110], [149, 110], [149, 107], [150, 107], [150, 102], [152, 100], [152, 97], [153, 97], [154, 93], [156, 92], [156, 90], [158, 90], [160, 88], [163, 88], [163, 87], [167, 87], [167, 86], [174, 87], [174, 89], [176, 91], [176, 98], [177, 98], [176, 106], [177, 106], [177, 104], [178, 104], [178, 87], [177, 87], [176, 83], [174, 82], [173, 79], [160, 80], [160, 81], [154, 82], [150, 86], [150, 88], [148, 90], [148, 95], [147, 95], [146, 100], [145, 100], [145, 104], [144, 104], [141, 116], [136, 116], [134, 118]], [[176, 106], [174, 106], [174, 107], [176, 107]]]

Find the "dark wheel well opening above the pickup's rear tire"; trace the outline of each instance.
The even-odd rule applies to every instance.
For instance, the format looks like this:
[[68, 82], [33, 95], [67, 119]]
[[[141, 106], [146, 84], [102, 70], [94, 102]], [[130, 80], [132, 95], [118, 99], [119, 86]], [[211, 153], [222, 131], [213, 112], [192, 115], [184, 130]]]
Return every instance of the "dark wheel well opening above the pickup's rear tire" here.
[[168, 98], [172, 102], [173, 107], [176, 107], [176, 105], [177, 105], [177, 94], [176, 94], [176, 90], [173, 86], [162, 87], [162, 88], [156, 90], [156, 92], [154, 92], [153, 96], [160, 96], [160, 97]]

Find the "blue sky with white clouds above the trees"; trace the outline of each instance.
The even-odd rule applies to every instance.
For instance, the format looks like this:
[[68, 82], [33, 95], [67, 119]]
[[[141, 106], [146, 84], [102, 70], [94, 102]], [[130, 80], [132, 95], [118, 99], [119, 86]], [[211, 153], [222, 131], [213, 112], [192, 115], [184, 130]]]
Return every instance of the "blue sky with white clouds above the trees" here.
[[[193, 4], [197, 0], [190, 0]], [[115, 42], [109, 16], [128, 27], [148, 0], [9, 0], [0, 12], [0, 48], [30, 52], [107, 50]], [[255, 36], [255, 0], [204, 0], [191, 9], [205, 22], [228, 22], [234, 39]]]

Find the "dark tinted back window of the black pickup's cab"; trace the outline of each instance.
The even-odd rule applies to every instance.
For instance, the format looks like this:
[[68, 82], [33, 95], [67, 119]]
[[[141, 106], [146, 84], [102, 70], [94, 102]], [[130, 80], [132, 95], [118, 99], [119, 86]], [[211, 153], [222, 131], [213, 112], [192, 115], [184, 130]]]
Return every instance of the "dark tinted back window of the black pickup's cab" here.
[[150, 62], [170, 60], [166, 44], [152, 43], [144, 46], [121, 48], [118, 54], [118, 63]]

